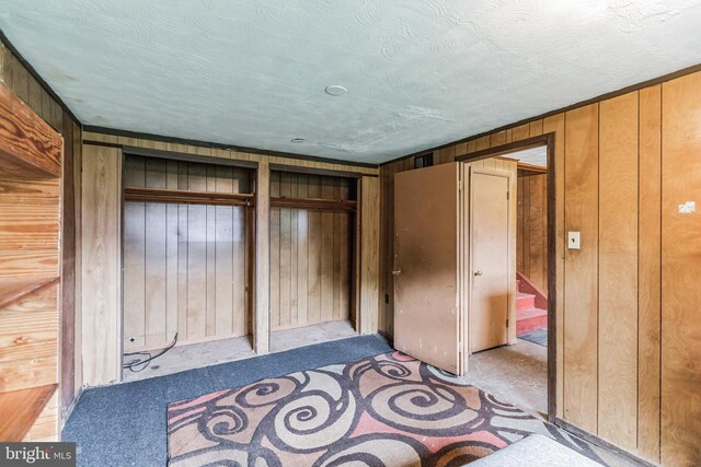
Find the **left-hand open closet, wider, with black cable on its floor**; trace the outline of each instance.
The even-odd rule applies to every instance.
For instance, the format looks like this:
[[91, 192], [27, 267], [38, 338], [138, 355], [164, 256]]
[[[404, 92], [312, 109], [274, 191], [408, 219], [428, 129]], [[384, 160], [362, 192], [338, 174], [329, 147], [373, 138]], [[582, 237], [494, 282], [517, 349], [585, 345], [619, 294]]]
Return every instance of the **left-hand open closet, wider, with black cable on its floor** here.
[[123, 381], [254, 354], [255, 171], [172, 155], [124, 150]]

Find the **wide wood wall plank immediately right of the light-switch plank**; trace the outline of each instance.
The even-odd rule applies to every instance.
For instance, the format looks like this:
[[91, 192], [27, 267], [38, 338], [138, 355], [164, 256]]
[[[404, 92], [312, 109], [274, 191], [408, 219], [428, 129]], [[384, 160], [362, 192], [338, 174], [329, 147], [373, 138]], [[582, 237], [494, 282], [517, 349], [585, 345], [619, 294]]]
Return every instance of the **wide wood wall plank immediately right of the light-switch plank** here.
[[637, 92], [599, 106], [598, 434], [637, 445]]

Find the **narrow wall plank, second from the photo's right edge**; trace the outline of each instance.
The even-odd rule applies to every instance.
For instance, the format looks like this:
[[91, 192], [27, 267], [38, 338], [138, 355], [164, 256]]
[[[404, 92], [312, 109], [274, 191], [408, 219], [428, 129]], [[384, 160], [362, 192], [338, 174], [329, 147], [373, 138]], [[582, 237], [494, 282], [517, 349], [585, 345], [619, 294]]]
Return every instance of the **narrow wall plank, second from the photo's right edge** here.
[[640, 91], [637, 450], [659, 462], [662, 86]]

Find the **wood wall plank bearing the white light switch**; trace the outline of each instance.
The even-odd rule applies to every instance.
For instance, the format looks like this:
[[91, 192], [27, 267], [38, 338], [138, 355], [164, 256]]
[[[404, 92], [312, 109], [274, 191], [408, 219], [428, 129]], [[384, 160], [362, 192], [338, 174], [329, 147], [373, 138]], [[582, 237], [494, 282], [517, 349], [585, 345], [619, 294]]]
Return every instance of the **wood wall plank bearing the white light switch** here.
[[[564, 419], [597, 432], [598, 104], [567, 112], [565, 231], [582, 249], [565, 252]], [[531, 128], [532, 129], [532, 128]]]

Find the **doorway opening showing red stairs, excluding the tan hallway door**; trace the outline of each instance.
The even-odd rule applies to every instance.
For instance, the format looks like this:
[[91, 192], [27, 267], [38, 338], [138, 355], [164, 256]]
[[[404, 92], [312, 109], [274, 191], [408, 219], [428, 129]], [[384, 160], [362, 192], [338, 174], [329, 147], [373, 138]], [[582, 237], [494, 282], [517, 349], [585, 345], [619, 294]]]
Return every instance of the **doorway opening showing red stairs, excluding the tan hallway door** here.
[[[516, 326], [508, 345], [472, 347], [466, 378], [502, 400], [543, 417], [554, 417], [555, 381], [555, 340], [554, 334], [549, 335], [549, 329], [554, 329], [554, 307], [549, 310], [549, 278], [554, 276], [549, 238], [554, 238], [555, 222], [554, 210], [548, 206], [554, 200], [554, 192], [550, 196], [554, 171], [549, 144], [551, 139], [544, 136], [468, 155], [517, 161], [516, 229], [512, 231], [516, 258], [509, 276], [515, 284]], [[484, 209], [490, 206], [489, 198], [475, 201], [483, 202]], [[472, 209], [480, 212], [479, 206]], [[478, 301], [473, 307], [479, 306], [483, 305]], [[475, 313], [479, 310], [471, 311]], [[479, 329], [473, 327], [472, 331]]]

